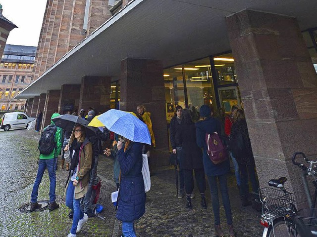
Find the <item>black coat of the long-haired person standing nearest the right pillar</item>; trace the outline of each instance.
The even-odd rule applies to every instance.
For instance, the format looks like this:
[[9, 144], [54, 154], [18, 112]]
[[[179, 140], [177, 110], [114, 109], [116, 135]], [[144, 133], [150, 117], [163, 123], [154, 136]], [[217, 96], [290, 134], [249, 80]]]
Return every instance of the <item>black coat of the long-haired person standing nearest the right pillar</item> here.
[[230, 137], [234, 140], [237, 133], [240, 132], [242, 134], [244, 149], [240, 154], [234, 154], [239, 164], [251, 164], [253, 165], [254, 157], [251, 148], [251, 142], [247, 127], [247, 122], [245, 119], [238, 119], [235, 123], [233, 123], [231, 127]]

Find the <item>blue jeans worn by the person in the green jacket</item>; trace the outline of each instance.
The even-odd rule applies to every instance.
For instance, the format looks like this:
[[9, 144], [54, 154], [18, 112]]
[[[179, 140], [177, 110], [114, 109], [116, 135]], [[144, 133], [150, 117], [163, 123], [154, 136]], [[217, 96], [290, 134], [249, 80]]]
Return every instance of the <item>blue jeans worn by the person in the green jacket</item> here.
[[56, 162], [56, 158], [52, 159], [39, 159], [39, 168], [38, 173], [35, 178], [35, 182], [33, 185], [33, 190], [31, 194], [31, 202], [38, 201], [38, 191], [39, 186], [43, 178], [43, 174], [45, 168], [48, 169], [49, 177], [50, 177], [50, 203], [55, 201], [55, 189], [56, 189], [56, 169], [54, 163]]

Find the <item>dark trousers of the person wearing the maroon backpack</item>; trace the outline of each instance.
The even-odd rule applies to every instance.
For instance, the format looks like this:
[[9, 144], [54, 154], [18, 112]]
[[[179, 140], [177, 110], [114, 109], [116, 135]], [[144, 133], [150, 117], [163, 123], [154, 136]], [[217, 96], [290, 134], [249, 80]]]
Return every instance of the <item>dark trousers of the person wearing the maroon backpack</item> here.
[[219, 175], [219, 176], [207, 176], [208, 183], [211, 192], [211, 203], [212, 203], [212, 211], [214, 216], [214, 224], [220, 225], [220, 205], [219, 205], [219, 195], [218, 195], [218, 183], [220, 186], [220, 192], [222, 196], [222, 203], [224, 206], [224, 212], [227, 218], [227, 224], [232, 225], [232, 215], [231, 215], [231, 206], [230, 199], [228, 195], [228, 187], [227, 187], [227, 175]]

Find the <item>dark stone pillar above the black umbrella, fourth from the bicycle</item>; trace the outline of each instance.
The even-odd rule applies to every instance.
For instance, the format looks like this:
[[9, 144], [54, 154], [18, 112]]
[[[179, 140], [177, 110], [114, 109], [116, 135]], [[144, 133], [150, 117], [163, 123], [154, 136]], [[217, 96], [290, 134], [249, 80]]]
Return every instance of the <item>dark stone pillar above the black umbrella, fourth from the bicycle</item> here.
[[64, 114], [66, 111], [78, 111], [80, 97], [80, 85], [63, 84], [60, 90], [58, 111]]

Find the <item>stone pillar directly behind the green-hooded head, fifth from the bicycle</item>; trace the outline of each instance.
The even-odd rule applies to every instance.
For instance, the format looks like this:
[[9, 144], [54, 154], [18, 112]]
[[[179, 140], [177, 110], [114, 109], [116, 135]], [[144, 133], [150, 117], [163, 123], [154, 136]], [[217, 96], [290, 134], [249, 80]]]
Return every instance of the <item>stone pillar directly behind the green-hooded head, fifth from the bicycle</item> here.
[[53, 113], [56, 110], [58, 111], [59, 96], [60, 90], [48, 90], [43, 112], [41, 131], [43, 130], [43, 128], [51, 123], [51, 117]]

